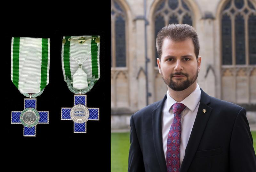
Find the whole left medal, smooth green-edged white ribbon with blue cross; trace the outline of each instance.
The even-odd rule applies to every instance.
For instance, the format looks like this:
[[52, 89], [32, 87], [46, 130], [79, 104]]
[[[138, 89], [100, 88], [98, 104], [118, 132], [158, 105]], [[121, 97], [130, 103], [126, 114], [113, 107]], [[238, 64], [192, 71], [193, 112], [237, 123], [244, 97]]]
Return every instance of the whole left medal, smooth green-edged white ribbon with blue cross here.
[[36, 97], [49, 82], [50, 39], [12, 37], [11, 79], [24, 99], [23, 111], [12, 111], [11, 123], [23, 124], [23, 136], [36, 136], [38, 123], [49, 123], [49, 111], [36, 110]]

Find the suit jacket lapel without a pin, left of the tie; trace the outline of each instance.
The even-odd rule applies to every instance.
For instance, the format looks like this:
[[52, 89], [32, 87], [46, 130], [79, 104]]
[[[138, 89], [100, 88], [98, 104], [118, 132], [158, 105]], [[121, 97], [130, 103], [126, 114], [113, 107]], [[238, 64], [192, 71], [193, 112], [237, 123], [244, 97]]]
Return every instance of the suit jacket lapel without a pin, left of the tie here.
[[152, 111], [154, 146], [155, 146], [156, 156], [157, 156], [161, 171], [163, 172], [167, 171], [166, 161], [164, 158], [163, 136], [162, 136], [162, 111], [163, 111], [165, 100], [166, 100], [166, 95], [164, 99], [156, 107], [156, 109]]

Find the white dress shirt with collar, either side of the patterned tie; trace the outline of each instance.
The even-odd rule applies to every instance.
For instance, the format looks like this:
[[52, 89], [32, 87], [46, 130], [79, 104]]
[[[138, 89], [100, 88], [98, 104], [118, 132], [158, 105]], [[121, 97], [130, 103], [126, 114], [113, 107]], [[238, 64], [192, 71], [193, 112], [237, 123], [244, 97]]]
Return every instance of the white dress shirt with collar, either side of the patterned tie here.
[[[162, 135], [163, 135], [163, 149], [164, 149], [164, 156], [166, 161], [166, 149], [167, 149], [167, 137], [170, 131], [170, 127], [172, 125], [172, 121], [174, 118], [172, 105], [176, 103], [170, 95], [169, 91], [166, 93], [167, 99], [164, 102], [164, 108], [162, 112]], [[195, 119], [196, 114], [198, 111], [199, 103], [201, 98], [201, 90], [199, 85], [197, 84], [196, 89], [183, 101], [180, 103], [187, 106], [181, 112], [181, 138], [180, 138], [180, 166], [184, 159], [185, 149], [188, 144], [188, 139], [190, 137]]]

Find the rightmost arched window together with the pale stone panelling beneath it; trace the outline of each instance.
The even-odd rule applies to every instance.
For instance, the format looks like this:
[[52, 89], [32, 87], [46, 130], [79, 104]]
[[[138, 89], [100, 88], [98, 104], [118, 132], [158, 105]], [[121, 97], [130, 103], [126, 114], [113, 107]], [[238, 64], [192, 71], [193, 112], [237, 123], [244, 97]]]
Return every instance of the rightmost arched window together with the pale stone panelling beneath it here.
[[221, 16], [221, 99], [256, 102], [256, 11], [252, 0], [228, 0]]

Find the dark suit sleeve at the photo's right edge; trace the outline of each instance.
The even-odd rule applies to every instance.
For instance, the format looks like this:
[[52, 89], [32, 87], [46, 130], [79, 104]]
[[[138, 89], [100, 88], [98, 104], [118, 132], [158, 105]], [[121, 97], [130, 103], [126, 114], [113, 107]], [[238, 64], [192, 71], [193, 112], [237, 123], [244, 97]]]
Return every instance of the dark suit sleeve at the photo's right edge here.
[[229, 149], [230, 171], [256, 171], [252, 134], [244, 108], [236, 116]]

